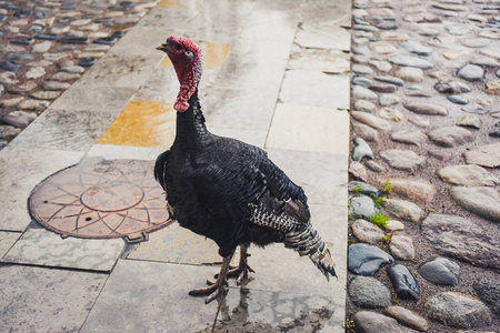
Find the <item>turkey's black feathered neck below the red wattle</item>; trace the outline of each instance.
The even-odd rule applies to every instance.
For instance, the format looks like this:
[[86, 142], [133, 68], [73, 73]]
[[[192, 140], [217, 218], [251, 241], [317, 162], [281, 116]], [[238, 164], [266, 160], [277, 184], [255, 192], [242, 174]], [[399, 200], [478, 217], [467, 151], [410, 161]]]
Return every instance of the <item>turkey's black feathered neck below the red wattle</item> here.
[[197, 151], [210, 141], [210, 132], [204, 124], [197, 88], [189, 99], [188, 110], [177, 112], [177, 133], [172, 149]]

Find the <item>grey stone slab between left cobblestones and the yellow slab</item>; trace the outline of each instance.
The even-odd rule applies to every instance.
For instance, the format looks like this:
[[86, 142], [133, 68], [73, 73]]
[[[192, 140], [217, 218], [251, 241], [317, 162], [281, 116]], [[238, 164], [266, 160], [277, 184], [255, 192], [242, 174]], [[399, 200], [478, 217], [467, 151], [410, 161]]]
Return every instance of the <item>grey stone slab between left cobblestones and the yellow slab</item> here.
[[101, 111], [50, 109], [38, 117], [11, 144], [17, 149], [87, 151], [113, 120], [114, 115]]

